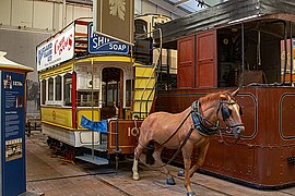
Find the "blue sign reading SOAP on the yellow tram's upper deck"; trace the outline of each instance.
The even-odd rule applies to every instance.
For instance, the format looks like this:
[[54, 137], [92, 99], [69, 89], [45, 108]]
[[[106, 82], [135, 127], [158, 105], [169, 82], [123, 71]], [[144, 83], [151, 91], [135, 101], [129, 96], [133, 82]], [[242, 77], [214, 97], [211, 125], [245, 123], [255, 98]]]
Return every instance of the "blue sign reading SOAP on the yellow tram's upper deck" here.
[[128, 54], [129, 46], [117, 40], [103, 37], [93, 32], [93, 23], [88, 24], [88, 52]]

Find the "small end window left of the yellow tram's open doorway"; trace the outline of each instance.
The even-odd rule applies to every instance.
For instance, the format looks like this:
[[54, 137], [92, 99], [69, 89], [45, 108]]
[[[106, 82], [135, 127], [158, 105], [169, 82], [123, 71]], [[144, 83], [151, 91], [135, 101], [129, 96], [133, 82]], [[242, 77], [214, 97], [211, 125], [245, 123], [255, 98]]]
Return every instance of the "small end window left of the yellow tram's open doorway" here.
[[98, 107], [98, 90], [93, 91], [93, 105], [92, 105], [92, 91], [81, 90], [76, 93], [76, 106], [78, 107]]

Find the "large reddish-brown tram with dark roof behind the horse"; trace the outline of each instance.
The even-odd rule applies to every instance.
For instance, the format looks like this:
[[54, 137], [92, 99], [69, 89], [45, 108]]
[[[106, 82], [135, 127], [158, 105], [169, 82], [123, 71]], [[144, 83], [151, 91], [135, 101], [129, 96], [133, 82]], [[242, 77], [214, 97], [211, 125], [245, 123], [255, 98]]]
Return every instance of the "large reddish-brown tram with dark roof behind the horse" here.
[[[257, 188], [295, 184], [294, 11], [292, 0], [237, 0], [156, 25], [156, 44], [178, 54], [177, 75], [169, 64], [160, 73], [155, 111], [181, 112], [239, 87], [245, 131], [238, 140], [226, 131], [212, 135], [200, 171]], [[194, 149], [193, 163], [202, 150]], [[184, 163], [180, 155], [175, 162]]]

